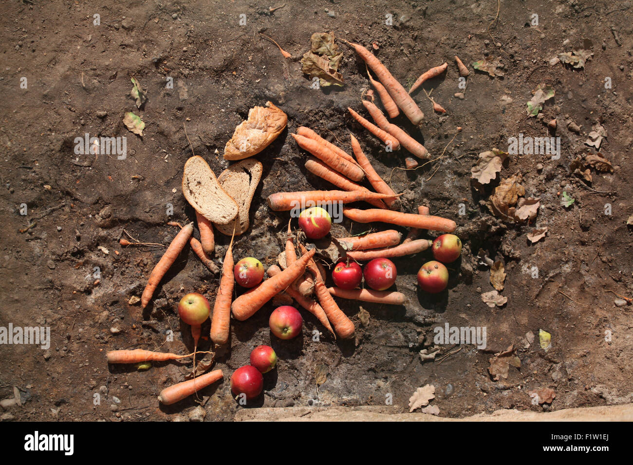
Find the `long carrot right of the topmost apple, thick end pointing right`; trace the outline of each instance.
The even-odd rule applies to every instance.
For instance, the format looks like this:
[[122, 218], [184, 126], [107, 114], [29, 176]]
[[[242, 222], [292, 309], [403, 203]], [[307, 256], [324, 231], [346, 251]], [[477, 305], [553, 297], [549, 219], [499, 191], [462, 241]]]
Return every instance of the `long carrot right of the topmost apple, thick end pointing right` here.
[[368, 210], [343, 208], [343, 214], [350, 220], [358, 223], [379, 221], [380, 223], [391, 223], [392, 225], [442, 232], [453, 232], [457, 229], [457, 225], [453, 220], [441, 218], [440, 216], [401, 213], [399, 211], [381, 210], [378, 208]]

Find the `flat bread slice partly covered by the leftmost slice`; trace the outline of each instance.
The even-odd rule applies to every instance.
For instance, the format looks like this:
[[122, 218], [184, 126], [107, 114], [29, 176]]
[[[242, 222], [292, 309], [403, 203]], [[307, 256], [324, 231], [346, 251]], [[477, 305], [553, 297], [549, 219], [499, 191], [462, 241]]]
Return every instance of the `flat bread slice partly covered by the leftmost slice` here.
[[[222, 189], [237, 202], [237, 206], [239, 207], [237, 225], [235, 225], [236, 236], [248, 230], [248, 213], [251, 209], [251, 201], [253, 201], [255, 189], [257, 189], [257, 185], [260, 183], [262, 171], [263, 166], [260, 161], [249, 158], [232, 164], [229, 166], [229, 169], [224, 170], [220, 177], [218, 177], [218, 182], [222, 186]], [[215, 227], [222, 234], [230, 236], [233, 233], [233, 221], [228, 225], [216, 224]]]

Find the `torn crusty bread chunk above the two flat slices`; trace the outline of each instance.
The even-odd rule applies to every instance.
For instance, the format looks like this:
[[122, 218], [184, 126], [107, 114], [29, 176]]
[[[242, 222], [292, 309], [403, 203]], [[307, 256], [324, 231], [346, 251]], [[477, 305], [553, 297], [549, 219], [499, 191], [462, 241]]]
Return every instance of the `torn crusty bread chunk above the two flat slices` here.
[[256, 106], [248, 111], [248, 120], [242, 121], [233, 137], [224, 147], [224, 158], [243, 160], [263, 151], [284, 130], [288, 116], [272, 102], [266, 107]]

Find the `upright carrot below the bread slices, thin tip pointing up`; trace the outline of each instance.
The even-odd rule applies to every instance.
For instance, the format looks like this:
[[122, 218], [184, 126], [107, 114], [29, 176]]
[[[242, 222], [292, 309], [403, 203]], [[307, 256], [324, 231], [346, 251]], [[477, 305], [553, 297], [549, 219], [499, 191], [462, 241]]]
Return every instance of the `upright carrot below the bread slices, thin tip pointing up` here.
[[[237, 224], [237, 220], [235, 220]], [[216, 345], [224, 345], [229, 342], [229, 328], [231, 322], [231, 301], [233, 297], [233, 288], [235, 286], [235, 276], [233, 274], [233, 237], [235, 235], [235, 227], [229, 248], [224, 256], [222, 263], [222, 278], [218, 286], [218, 295], [215, 297], [213, 304], [213, 318], [211, 318], [211, 340]]]

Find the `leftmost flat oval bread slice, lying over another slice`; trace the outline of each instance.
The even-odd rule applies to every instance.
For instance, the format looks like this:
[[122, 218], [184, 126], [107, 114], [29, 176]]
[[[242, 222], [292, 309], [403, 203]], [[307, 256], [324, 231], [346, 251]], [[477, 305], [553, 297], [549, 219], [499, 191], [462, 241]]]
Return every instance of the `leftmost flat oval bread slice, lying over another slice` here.
[[182, 193], [198, 213], [213, 223], [226, 225], [237, 216], [237, 203], [220, 187], [213, 170], [200, 156], [192, 156], [185, 163]]

